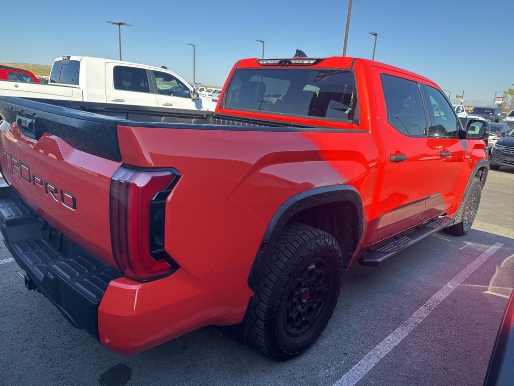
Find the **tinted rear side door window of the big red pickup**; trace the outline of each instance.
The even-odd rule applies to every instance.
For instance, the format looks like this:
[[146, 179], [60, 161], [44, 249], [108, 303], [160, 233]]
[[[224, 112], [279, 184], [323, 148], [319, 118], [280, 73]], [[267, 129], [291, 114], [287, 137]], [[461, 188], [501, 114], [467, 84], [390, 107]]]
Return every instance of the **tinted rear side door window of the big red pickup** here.
[[405, 135], [426, 135], [427, 119], [418, 84], [387, 74], [380, 77], [389, 123]]

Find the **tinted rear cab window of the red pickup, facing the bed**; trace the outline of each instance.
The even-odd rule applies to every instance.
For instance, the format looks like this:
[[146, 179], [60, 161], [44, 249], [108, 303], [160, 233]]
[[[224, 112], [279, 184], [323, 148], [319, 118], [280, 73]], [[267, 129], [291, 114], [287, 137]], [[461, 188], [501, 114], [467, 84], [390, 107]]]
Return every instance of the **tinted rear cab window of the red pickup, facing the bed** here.
[[350, 70], [306, 68], [238, 69], [224, 104], [229, 109], [333, 120], [353, 120], [356, 106]]

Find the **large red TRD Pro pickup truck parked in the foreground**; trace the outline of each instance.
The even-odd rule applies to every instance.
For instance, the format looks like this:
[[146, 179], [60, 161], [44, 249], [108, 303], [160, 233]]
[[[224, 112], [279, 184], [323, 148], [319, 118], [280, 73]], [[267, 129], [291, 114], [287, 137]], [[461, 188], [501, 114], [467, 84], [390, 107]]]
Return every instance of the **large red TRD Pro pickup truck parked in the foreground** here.
[[122, 354], [207, 325], [302, 353], [353, 262], [466, 234], [489, 169], [481, 120], [370, 60], [240, 60], [215, 112], [137, 109], [0, 97], [5, 242]]

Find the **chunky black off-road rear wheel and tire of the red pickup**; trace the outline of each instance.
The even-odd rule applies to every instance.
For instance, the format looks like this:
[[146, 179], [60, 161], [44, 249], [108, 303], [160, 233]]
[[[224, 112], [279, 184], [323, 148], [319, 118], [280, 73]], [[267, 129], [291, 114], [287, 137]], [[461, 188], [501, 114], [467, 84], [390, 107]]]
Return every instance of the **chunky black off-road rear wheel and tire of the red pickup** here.
[[316, 342], [332, 317], [341, 287], [341, 248], [332, 235], [298, 223], [287, 224], [268, 248], [270, 260], [248, 310], [246, 341], [272, 359], [287, 360]]

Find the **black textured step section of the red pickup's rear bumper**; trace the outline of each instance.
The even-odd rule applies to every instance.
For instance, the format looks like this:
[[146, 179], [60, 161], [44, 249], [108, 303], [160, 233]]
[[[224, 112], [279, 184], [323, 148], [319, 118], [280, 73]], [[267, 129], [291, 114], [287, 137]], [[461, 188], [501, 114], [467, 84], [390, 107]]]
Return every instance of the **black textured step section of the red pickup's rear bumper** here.
[[51, 227], [10, 187], [0, 188], [0, 231], [27, 288], [45, 295], [75, 327], [98, 339], [98, 306], [121, 273]]

